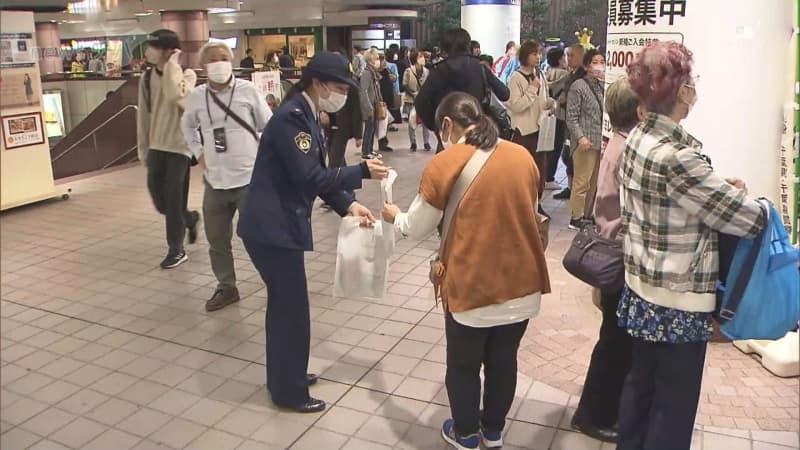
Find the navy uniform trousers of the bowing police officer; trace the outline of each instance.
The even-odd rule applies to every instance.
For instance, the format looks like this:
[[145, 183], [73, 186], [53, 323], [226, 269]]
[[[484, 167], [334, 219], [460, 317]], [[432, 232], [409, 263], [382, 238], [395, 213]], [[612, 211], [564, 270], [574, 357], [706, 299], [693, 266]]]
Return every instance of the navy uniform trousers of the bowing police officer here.
[[309, 400], [311, 342], [303, 251], [251, 241], [244, 246], [267, 285], [267, 389], [278, 406], [302, 405]]

